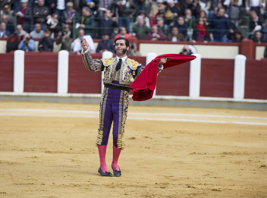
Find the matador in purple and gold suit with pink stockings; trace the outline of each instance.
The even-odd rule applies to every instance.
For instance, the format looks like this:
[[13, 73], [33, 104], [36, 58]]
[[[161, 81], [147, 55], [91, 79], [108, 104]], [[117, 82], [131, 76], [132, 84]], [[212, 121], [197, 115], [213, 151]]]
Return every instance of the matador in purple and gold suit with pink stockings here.
[[[113, 159], [111, 168], [113, 175], [120, 177], [121, 170], [118, 159], [121, 150], [125, 149], [124, 127], [128, 112], [129, 86], [141, 74], [145, 66], [127, 57], [130, 48], [128, 39], [119, 37], [114, 41], [113, 49], [115, 58], [92, 59], [89, 44], [82, 40], [82, 59], [85, 67], [94, 72], [104, 71], [104, 90], [100, 101], [99, 128], [95, 146], [98, 147], [101, 176], [112, 176], [107, 169], [106, 150], [109, 132], [113, 121]], [[167, 59], [162, 58], [156, 62], [158, 73], [163, 69]]]

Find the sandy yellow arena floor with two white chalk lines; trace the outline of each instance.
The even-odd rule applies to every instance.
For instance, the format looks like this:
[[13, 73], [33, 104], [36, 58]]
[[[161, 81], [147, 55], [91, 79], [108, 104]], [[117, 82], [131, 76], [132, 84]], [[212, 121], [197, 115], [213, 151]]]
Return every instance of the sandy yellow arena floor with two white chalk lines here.
[[266, 111], [129, 106], [122, 176], [101, 177], [98, 110], [0, 102], [0, 197], [267, 197]]

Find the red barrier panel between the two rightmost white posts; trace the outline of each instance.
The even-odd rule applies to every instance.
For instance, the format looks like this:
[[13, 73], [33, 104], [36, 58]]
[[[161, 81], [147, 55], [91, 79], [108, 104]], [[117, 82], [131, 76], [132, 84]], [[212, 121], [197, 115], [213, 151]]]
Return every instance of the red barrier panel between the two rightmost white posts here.
[[201, 59], [200, 96], [233, 97], [234, 60]]

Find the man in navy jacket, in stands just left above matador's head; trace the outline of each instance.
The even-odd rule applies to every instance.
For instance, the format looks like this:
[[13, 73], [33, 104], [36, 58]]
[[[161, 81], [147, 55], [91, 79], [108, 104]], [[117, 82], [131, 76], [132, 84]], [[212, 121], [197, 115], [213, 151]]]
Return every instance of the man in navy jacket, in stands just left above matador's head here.
[[114, 37], [114, 28], [118, 27], [117, 18], [112, 17], [111, 11], [106, 10], [103, 11], [104, 18], [101, 18], [99, 20], [99, 27], [101, 27], [98, 30], [98, 37], [102, 37], [103, 32], [108, 32], [109, 37]]

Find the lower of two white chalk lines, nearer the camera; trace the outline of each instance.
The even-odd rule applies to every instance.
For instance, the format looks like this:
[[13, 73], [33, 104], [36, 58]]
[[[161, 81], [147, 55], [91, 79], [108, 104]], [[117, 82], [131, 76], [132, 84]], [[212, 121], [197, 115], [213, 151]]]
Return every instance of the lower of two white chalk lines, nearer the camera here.
[[[0, 116], [33, 116], [33, 117], [82, 117], [82, 118], [99, 118], [98, 116], [89, 115], [54, 115], [54, 114], [5, 114], [0, 113]], [[220, 121], [220, 120], [192, 120], [192, 119], [168, 119], [168, 118], [147, 118], [147, 117], [127, 117], [132, 120], [154, 120], [154, 121], [174, 121], [174, 122], [204, 122], [204, 123], [223, 123], [223, 124], [242, 124], [242, 125], [267, 125], [260, 122], [235, 122], [235, 121]]]

